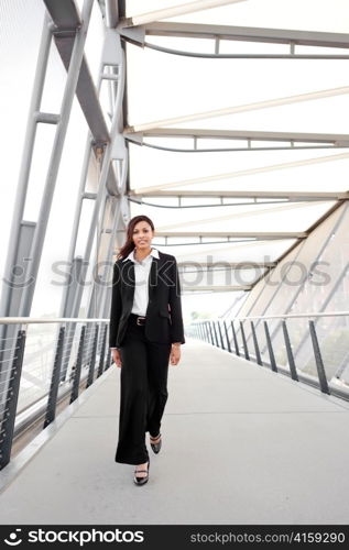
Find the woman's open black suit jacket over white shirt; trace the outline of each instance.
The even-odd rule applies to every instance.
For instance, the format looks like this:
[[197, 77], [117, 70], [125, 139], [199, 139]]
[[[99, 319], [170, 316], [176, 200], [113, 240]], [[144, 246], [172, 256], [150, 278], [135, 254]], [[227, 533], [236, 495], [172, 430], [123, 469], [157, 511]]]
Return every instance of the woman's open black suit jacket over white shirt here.
[[[149, 275], [149, 302], [145, 337], [151, 342], [185, 343], [181, 304], [181, 284], [176, 258], [159, 251]], [[119, 348], [126, 334], [133, 306], [134, 263], [118, 260], [113, 266], [110, 310], [110, 348]]]

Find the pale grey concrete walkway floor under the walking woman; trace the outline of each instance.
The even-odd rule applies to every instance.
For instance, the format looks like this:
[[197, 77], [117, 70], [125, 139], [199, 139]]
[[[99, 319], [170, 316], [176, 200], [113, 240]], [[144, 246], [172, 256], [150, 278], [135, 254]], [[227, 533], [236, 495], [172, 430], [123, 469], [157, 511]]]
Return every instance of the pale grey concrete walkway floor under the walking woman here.
[[112, 365], [0, 472], [1, 524], [347, 524], [349, 404], [187, 340], [150, 481], [117, 464]]

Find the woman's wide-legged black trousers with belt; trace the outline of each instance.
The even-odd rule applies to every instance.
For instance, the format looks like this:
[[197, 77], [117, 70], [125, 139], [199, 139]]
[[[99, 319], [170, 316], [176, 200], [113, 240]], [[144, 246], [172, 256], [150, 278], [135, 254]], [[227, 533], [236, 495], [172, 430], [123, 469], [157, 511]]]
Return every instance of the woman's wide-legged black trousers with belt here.
[[160, 432], [167, 393], [171, 343], [150, 342], [131, 315], [120, 348], [120, 417], [116, 462], [148, 462], [145, 433]]

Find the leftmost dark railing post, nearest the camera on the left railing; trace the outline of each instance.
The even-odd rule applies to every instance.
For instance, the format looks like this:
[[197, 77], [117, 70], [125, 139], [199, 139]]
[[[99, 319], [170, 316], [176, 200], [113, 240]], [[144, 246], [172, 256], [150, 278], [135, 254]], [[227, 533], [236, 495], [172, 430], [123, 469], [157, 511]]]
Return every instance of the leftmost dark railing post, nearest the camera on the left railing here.
[[22, 374], [23, 356], [25, 346], [25, 330], [19, 330], [14, 358], [12, 361], [10, 384], [7, 394], [6, 407], [3, 411], [3, 420], [0, 430], [0, 470], [9, 462], [11, 457], [13, 431], [15, 422], [17, 404], [20, 392], [20, 382]]

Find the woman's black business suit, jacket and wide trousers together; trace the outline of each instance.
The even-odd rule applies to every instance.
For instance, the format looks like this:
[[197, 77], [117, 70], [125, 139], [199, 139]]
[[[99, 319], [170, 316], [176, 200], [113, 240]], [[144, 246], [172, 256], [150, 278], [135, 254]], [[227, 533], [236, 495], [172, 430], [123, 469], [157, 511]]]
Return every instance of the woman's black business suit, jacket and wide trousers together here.
[[167, 400], [167, 372], [172, 342], [185, 342], [181, 285], [174, 256], [159, 252], [149, 274], [144, 327], [131, 315], [134, 263], [114, 263], [110, 311], [111, 348], [121, 355], [121, 400], [117, 462], [148, 462], [145, 432], [157, 436]]

